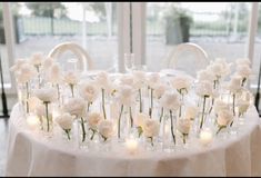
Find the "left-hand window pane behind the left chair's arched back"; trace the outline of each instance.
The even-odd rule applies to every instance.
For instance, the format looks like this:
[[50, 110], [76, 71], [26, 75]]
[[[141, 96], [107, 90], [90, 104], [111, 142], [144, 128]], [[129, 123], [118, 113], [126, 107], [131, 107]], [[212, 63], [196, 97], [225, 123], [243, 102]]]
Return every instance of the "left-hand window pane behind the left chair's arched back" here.
[[[114, 66], [118, 53], [117, 10], [114, 2], [13, 2], [16, 18], [17, 58], [32, 52], [48, 55], [57, 44], [76, 42], [93, 60], [96, 69]], [[86, 38], [83, 37], [83, 6], [86, 6]], [[12, 12], [17, 14], [16, 11]], [[86, 39], [86, 41], [83, 41]], [[62, 59], [61, 59], [62, 58]], [[76, 58], [66, 52], [59, 61]]]

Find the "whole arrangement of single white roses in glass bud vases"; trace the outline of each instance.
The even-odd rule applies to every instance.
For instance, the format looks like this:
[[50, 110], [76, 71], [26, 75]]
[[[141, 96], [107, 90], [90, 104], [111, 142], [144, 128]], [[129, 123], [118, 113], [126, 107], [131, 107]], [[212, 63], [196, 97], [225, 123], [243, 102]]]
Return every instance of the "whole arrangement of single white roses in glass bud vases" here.
[[[248, 111], [252, 102], [245, 87], [252, 73], [250, 61], [238, 59], [233, 65], [235, 71], [231, 73], [232, 63], [217, 58], [200, 70], [195, 79], [139, 70], [113, 78], [101, 71], [86, 78], [76, 70], [64, 71], [52, 58], [34, 53], [29, 59], [18, 59], [10, 70], [17, 82], [26, 87], [24, 111], [37, 116], [46, 131], [59, 126], [70, 140], [77, 121], [81, 142], [93, 140], [97, 135], [102, 142], [110, 138], [122, 140], [134, 130], [137, 139], [149, 139], [151, 146], [155, 146], [164, 135], [175, 146], [179, 139], [188, 142], [192, 128], [194, 131], [197, 127], [197, 134], [204, 130], [210, 125], [205, 118], [215, 120], [215, 134], [219, 135], [228, 126], [233, 127], [235, 117], [243, 117]], [[39, 87], [33, 88], [37, 85]], [[223, 92], [229, 95], [227, 99]], [[109, 107], [112, 103], [113, 109]], [[52, 117], [51, 111], [56, 107], [61, 112]], [[123, 131], [127, 135], [122, 135]], [[154, 139], [157, 137], [159, 139]]]

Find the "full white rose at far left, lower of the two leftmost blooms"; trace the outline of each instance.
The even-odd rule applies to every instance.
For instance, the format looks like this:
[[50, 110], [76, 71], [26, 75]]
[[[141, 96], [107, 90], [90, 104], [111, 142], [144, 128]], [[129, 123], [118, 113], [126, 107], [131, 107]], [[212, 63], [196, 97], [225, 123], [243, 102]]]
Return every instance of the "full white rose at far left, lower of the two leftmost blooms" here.
[[20, 69], [16, 72], [17, 81], [20, 83], [28, 82], [37, 76], [37, 70], [29, 63], [23, 63]]

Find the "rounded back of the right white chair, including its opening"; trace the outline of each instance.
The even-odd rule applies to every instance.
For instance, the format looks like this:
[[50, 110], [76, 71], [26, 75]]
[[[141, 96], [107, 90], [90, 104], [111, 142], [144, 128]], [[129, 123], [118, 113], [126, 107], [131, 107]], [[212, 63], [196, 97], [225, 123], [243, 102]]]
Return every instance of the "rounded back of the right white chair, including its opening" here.
[[185, 71], [195, 77], [197, 71], [209, 63], [208, 53], [198, 44], [185, 42], [178, 44], [168, 56], [168, 68]]

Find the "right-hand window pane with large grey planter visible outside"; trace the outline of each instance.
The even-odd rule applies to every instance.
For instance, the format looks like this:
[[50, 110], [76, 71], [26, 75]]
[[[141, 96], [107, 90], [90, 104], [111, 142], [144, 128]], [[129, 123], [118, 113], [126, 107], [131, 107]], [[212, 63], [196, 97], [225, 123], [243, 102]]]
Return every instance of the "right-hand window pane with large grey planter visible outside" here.
[[210, 60], [244, 57], [249, 11], [249, 2], [148, 2], [149, 69], [165, 68], [167, 56], [182, 42], [199, 44]]

